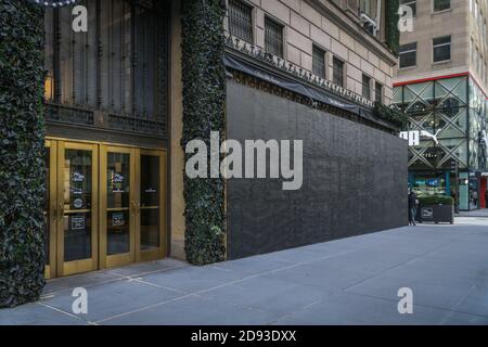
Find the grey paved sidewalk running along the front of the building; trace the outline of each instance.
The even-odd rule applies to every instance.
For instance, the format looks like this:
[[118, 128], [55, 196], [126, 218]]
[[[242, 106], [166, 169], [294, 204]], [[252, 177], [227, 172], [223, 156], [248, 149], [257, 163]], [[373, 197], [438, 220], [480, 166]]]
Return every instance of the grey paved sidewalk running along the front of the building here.
[[202, 268], [166, 259], [56, 279], [0, 324], [488, 324], [487, 294], [488, 218], [460, 217]]

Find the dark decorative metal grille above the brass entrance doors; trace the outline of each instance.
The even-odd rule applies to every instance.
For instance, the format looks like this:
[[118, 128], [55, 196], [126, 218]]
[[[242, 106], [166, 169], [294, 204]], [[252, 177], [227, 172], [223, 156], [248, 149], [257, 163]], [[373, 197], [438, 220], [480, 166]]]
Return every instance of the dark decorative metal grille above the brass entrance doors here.
[[68, 7], [46, 12], [47, 120], [167, 137], [166, 1], [80, 4], [88, 33], [72, 29]]

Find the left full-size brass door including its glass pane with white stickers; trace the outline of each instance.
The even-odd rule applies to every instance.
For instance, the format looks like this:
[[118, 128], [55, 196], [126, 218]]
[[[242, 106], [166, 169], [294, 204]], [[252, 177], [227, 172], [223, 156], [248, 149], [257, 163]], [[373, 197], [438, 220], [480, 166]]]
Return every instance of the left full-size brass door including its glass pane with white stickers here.
[[57, 261], [62, 275], [97, 268], [97, 150], [60, 143], [57, 179]]

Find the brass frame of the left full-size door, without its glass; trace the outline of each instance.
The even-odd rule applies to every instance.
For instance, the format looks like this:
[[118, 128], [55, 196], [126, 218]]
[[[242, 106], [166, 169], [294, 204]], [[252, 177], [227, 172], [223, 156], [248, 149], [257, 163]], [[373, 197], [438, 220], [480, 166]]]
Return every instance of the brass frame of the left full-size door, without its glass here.
[[[81, 259], [75, 261], [64, 261], [64, 158], [65, 150], [81, 150], [91, 152], [91, 258]], [[57, 142], [57, 194], [56, 194], [56, 256], [57, 256], [57, 277], [65, 277], [80, 272], [89, 272], [98, 269], [99, 262], [99, 233], [98, 233], [98, 222], [95, 217], [99, 215], [98, 208], [98, 196], [99, 191], [99, 155], [98, 146], [95, 144], [86, 144], [78, 142]]]

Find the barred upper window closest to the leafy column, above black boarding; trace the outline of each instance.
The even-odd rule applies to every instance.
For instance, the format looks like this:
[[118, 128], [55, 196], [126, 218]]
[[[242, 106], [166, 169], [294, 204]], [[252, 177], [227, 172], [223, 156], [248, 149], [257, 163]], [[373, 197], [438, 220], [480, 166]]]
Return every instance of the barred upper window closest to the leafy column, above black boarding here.
[[229, 0], [229, 33], [253, 42], [253, 8], [241, 0]]

